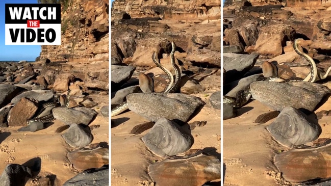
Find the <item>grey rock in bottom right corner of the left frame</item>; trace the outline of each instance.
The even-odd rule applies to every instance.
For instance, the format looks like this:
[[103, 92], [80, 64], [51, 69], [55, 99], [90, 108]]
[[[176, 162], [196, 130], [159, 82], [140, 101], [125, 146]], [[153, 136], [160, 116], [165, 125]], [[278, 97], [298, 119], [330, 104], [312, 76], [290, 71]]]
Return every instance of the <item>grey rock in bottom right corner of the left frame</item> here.
[[77, 186], [77, 185], [95, 185], [104, 186], [109, 185], [109, 168], [108, 166], [89, 169], [73, 178], [66, 181], [63, 186]]

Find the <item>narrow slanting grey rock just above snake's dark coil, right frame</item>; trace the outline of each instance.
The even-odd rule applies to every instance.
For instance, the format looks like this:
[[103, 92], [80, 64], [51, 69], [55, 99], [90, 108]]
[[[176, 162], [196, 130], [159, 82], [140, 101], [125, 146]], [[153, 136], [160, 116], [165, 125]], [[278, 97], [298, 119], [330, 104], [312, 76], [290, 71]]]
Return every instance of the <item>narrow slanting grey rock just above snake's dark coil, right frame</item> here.
[[230, 89], [231, 91], [227, 92], [225, 95], [230, 97], [236, 97], [239, 91], [245, 90], [251, 83], [256, 82], [260, 77], [263, 77], [263, 75], [254, 74], [248, 77], [241, 78], [237, 81], [224, 85], [223, 91], [225, 91], [225, 89]]

